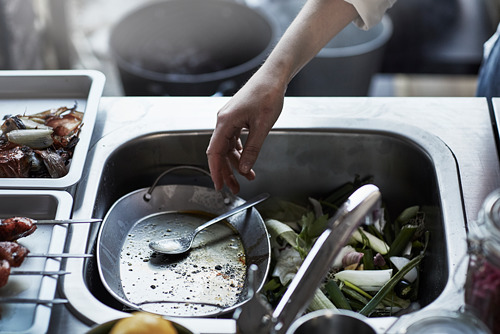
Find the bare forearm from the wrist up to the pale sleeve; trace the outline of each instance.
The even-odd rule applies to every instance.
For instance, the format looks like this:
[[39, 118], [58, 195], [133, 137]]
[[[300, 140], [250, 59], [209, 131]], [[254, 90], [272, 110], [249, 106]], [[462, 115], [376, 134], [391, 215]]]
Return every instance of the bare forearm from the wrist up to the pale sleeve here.
[[308, 0], [259, 71], [286, 87], [357, 16], [344, 0]]

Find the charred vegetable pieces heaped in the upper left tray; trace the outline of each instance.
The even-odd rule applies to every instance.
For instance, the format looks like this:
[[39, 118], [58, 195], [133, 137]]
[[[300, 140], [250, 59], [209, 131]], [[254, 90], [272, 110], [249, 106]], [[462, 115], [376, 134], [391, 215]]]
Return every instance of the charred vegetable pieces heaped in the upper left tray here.
[[59, 107], [7, 115], [0, 127], [1, 178], [59, 178], [69, 171], [83, 113]]

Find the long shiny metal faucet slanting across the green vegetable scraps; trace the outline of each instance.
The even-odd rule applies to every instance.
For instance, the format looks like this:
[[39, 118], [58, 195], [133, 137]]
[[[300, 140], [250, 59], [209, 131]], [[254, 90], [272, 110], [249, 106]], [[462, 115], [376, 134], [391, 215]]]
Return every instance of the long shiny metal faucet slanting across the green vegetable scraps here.
[[282, 334], [305, 311], [331, 264], [351, 234], [362, 224], [371, 224], [380, 214], [381, 194], [371, 184], [356, 190], [328, 221], [328, 228], [318, 237], [304, 259], [283, 298], [273, 311], [257, 293], [257, 282], [249, 269], [250, 300], [234, 313], [240, 334]]

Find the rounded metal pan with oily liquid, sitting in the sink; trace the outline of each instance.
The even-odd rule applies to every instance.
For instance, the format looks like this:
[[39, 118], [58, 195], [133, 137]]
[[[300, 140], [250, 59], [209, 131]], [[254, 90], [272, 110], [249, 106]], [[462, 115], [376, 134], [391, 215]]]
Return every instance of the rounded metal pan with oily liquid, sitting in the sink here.
[[255, 209], [200, 232], [184, 255], [153, 253], [149, 242], [175, 236], [245, 201], [211, 188], [156, 186], [120, 198], [105, 216], [97, 240], [99, 275], [124, 305], [166, 316], [213, 316], [246, 302], [247, 271], [258, 266], [259, 289], [270, 261], [264, 221]]

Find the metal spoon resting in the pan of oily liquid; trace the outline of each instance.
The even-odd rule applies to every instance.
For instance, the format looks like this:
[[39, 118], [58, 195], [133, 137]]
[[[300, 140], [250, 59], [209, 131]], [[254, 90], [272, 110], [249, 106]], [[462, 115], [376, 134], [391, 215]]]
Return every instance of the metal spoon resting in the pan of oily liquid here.
[[167, 238], [167, 239], [162, 239], [162, 240], [157, 240], [157, 241], [152, 241], [149, 243], [149, 248], [154, 250], [155, 252], [162, 253], [162, 254], [181, 254], [184, 252], [187, 252], [191, 246], [193, 245], [193, 240], [196, 237], [196, 235], [203, 229], [212, 226], [215, 223], [220, 222], [221, 220], [224, 220], [240, 211], [243, 211], [245, 209], [248, 209], [264, 200], [266, 200], [269, 197], [269, 194], [264, 193], [260, 194], [251, 200], [243, 203], [240, 206], [235, 207], [234, 209], [231, 209], [223, 214], [221, 214], [218, 217], [215, 217], [212, 220], [209, 220], [203, 225], [198, 226], [195, 230], [193, 230], [191, 233], [187, 235], [183, 235], [180, 237], [173, 237], [173, 238]]

